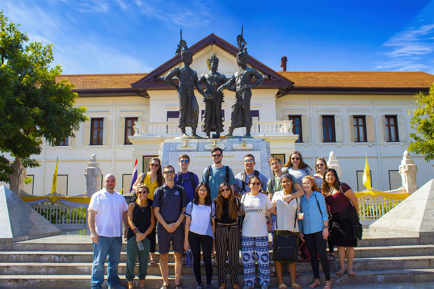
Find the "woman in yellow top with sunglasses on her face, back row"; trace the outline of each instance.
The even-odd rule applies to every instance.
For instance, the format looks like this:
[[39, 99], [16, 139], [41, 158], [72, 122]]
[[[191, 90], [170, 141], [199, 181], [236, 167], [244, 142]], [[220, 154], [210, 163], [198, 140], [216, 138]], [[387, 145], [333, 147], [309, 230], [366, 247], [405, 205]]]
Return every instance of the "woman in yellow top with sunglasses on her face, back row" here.
[[[163, 174], [161, 172], [161, 161], [159, 158], [151, 158], [149, 161], [149, 171], [147, 173], [141, 173], [135, 183], [133, 184], [133, 190], [137, 190], [138, 185], [145, 184], [149, 188], [148, 204], [152, 206], [154, 202], [154, 193], [158, 187], [163, 185]], [[132, 202], [135, 200], [132, 200]], [[157, 226], [157, 221], [155, 221]], [[151, 255], [151, 266], [157, 266], [155, 261], [155, 247], [157, 243], [157, 237], [155, 235], [155, 227], [151, 233], [146, 236], [150, 241], [149, 253]]]

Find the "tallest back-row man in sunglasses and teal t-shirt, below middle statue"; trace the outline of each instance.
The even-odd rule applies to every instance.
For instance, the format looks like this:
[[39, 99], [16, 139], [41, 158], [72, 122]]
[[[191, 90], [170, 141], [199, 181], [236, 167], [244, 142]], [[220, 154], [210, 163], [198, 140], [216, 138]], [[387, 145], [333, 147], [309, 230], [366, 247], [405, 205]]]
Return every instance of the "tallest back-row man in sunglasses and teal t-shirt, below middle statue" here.
[[221, 183], [227, 182], [230, 184], [233, 192], [233, 185], [235, 184], [235, 177], [233, 177], [232, 169], [224, 166], [221, 163], [223, 158], [223, 151], [221, 148], [213, 148], [211, 156], [214, 164], [205, 168], [202, 174], [202, 183], [207, 183], [211, 190], [211, 200], [214, 200], [218, 194], [218, 188]]

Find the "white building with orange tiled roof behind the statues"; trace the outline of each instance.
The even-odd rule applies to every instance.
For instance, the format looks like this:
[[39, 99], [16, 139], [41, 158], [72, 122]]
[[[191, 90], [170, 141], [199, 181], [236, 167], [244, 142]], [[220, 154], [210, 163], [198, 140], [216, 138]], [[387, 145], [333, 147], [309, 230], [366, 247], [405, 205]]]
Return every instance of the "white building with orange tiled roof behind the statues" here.
[[[191, 67], [198, 76], [208, 71], [206, 59], [213, 53], [220, 59], [220, 73], [230, 77], [238, 70], [235, 60], [238, 49], [214, 34], [190, 49], [194, 53]], [[79, 93], [76, 105], [87, 106], [86, 114], [91, 120], [81, 124], [76, 138], [69, 138], [59, 146], [49, 147], [43, 142], [42, 154], [35, 156], [41, 166], [27, 169], [27, 175], [33, 177], [27, 193], [50, 192], [57, 157], [57, 191], [68, 196], [82, 193], [86, 190], [83, 174], [92, 154], [96, 154], [102, 174], [115, 175], [118, 190], [128, 189], [135, 158], [141, 173], [143, 160], [147, 164], [149, 158], [157, 156], [165, 138], [179, 136], [176, 91], [161, 76], [180, 61], [180, 55], [174, 56], [150, 73], [59, 76], [58, 80], [68, 79], [76, 85], [75, 91]], [[251, 56], [248, 64], [267, 77], [253, 90], [252, 135], [270, 141], [271, 154], [287, 161], [293, 150], [300, 151], [313, 169], [316, 158], [327, 159], [330, 151], [334, 151], [342, 166], [342, 181], [353, 190], [365, 189], [361, 178], [367, 154], [372, 187], [390, 190], [401, 186], [398, 166], [412, 131], [411, 115], [407, 111], [415, 107], [413, 95], [427, 92], [434, 75], [276, 72]], [[225, 90], [224, 94], [227, 129], [234, 93]], [[196, 96], [203, 110], [201, 95], [196, 92]], [[289, 120], [296, 135], [284, 132]], [[131, 136], [133, 123], [138, 127], [135, 136]], [[414, 155], [413, 159], [418, 166], [417, 183], [421, 187], [433, 178], [433, 167], [420, 155]]]

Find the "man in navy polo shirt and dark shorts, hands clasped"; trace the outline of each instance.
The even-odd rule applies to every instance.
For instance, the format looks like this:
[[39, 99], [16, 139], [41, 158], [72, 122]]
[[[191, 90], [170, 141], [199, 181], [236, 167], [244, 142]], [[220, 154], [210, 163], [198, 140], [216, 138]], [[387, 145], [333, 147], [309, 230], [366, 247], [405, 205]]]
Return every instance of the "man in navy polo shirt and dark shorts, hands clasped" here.
[[168, 289], [168, 265], [170, 243], [175, 256], [175, 289], [180, 285], [182, 269], [182, 252], [184, 252], [184, 220], [185, 207], [188, 204], [187, 193], [175, 184], [175, 169], [169, 164], [163, 168], [165, 183], [154, 193], [154, 214], [158, 220], [158, 250], [160, 253], [160, 270], [163, 278], [162, 289]]

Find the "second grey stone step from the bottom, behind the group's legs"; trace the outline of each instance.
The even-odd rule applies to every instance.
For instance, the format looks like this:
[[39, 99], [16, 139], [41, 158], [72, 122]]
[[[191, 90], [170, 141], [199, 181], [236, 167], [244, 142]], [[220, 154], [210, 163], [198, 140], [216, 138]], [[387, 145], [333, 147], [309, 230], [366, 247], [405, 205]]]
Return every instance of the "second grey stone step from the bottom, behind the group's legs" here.
[[[340, 268], [339, 261], [335, 260], [330, 263], [330, 268], [332, 271], [337, 271]], [[354, 259], [353, 268], [355, 270], [434, 269], [434, 256]], [[319, 269], [322, 271], [321, 265]], [[242, 264], [238, 265], [238, 270], [240, 274], [243, 274]], [[273, 270], [273, 261], [270, 262], [270, 270]], [[92, 263], [0, 263], [0, 275], [90, 275], [91, 271]], [[169, 275], [173, 275], [174, 272], [174, 263], [169, 263]], [[227, 272], [230, 272], [229, 266], [227, 266]], [[310, 263], [297, 263], [297, 272], [312, 272]], [[105, 273], [107, 273], [107, 270]], [[118, 266], [118, 274], [119, 276], [125, 276], [125, 273], [126, 265], [125, 263], [120, 263]], [[182, 273], [185, 275], [194, 275], [193, 268], [191, 267], [184, 266]], [[204, 266], [201, 266], [201, 273], [205, 274]], [[135, 266], [135, 274], [138, 274], [138, 264]], [[148, 274], [160, 275], [160, 267], [148, 266]], [[217, 265], [214, 266], [214, 274], [217, 274]]]

